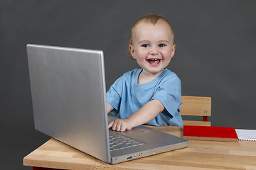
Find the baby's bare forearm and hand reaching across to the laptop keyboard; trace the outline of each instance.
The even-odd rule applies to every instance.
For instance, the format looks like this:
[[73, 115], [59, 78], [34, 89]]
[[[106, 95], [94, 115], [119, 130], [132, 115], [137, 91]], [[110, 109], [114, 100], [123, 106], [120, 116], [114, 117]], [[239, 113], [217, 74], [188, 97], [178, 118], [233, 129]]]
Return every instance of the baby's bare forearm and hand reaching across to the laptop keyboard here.
[[125, 130], [131, 130], [132, 128], [149, 122], [156, 115], [164, 111], [164, 106], [159, 100], [152, 100], [146, 103], [139, 111], [133, 113], [127, 119], [117, 119], [109, 124], [109, 128], [124, 132]]

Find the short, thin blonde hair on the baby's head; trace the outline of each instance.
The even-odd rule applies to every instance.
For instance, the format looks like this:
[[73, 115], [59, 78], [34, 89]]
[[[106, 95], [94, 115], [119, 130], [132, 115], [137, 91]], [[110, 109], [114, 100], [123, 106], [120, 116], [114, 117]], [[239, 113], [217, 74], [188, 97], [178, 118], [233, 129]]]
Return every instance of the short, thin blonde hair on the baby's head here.
[[174, 40], [174, 29], [171, 26], [171, 23], [169, 23], [169, 21], [167, 21], [166, 18], [164, 18], [163, 16], [159, 16], [156, 14], [149, 14], [147, 16], [142, 16], [134, 23], [134, 25], [132, 26], [132, 29], [130, 31], [130, 35], [129, 35], [129, 45], [132, 45], [132, 34], [134, 32], [134, 28], [138, 25], [138, 23], [148, 22], [148, 23], [152, 23], [152, 24], [156, 25], [157, 21], [164, 21], [165, 23], [167, 23], [170, 26], [173, 44], [176, 45], [176, 42]]

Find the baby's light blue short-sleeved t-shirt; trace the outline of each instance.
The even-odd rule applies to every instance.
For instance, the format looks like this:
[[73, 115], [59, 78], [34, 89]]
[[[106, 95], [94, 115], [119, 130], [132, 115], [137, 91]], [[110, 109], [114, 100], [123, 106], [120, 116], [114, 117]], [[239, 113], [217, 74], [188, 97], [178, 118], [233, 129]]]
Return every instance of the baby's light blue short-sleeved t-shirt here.
[[165, 109], [146, 124], [182, 126], [179, 114], [179, 106], [182, 104], [181, 81], [177, 75], [169, 69], [164, 69], [156, 79], [146, 84], [137, 84], [141, 72], [142, 69], [134, 69], [124, 73], [112, 84], [107, 91], [107, 102], [114, 108], [110, 113], [119, 113], [120, 118], [126, 119], [147, 102], [157, 99]]

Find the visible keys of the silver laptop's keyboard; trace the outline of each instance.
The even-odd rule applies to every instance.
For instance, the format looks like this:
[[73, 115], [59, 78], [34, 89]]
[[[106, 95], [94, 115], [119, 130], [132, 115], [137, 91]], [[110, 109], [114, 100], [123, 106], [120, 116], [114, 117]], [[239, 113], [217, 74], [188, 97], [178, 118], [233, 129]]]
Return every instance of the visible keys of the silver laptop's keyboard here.
[[145, 144], [144, 142], [140, 142], [130, 137], [120, 135], [119, 133], [113, 132], [112, 130], [110, 130], [109, 132], [110, 132], [110, 151], [125, 149], [129, 147], [137, 147]]

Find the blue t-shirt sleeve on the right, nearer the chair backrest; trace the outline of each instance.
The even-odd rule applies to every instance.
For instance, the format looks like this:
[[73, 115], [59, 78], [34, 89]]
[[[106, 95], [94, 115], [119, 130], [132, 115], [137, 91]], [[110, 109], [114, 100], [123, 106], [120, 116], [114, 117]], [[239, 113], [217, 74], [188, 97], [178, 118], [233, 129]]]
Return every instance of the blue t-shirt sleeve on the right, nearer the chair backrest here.
[[180, 112], [181, 101], [181, 80], [177, 76], [171, 77], [159, 85], [154, 93], [153, 99], [159, 100], [164, 105], [164, 115], [169, 118], [176, 117]]

